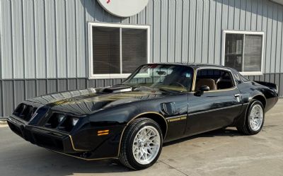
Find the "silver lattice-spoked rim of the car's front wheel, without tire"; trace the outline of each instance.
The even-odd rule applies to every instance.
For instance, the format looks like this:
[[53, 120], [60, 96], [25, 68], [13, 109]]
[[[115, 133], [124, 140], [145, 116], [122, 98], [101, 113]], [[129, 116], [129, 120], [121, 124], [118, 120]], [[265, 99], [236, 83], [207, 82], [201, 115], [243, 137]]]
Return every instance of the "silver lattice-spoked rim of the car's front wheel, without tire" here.
[[132, 153], [134, 160], [141, 165], [151, 163], [160, 150], [161, 139], [156, 128], [146, 126], [141, 128], [136, 136], [132, 145]]

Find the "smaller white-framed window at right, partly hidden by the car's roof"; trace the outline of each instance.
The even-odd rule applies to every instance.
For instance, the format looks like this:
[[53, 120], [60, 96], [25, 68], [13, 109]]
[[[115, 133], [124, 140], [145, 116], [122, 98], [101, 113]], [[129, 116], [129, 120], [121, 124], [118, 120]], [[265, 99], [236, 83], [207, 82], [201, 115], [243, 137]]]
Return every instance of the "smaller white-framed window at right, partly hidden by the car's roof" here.
[[262, 74], [263, 32], [224, 30], [223, 39], [224, 66], [243, 75]]

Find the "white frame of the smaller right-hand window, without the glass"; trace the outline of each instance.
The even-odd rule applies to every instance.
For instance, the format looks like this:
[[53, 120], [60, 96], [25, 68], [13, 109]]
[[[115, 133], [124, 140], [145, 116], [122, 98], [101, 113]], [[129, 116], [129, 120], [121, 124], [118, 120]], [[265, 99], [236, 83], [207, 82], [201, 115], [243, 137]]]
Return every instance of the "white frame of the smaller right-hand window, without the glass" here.
[[265, 33], [259, 31], [243, 31], [243, 30], [223, 30], [222, 33], [222, 65], [225, 66], [225, 44], [226, 34], [243, 34], [243, 63], [245, 59], [245, 35], [262, 35], [262, 51], [261, 51], [261, 68], [260, 71], [242, 71], [240, 74], [243, 76], [256, 76], [263, 74], [263, 63], [264, 63], [264, 47], [265, 47]]

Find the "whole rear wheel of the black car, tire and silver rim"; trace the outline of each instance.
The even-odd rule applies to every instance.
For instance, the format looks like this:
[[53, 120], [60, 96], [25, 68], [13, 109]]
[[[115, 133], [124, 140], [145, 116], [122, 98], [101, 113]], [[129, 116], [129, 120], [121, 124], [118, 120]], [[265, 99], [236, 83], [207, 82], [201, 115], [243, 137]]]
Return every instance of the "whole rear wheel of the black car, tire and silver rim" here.
[[248, 107], [248, 112], [243, 127], [237, 127], [238, 131], [243, 134], [258, 134], [265, 122], [265, 112], [262, 103], [254, 100]]

